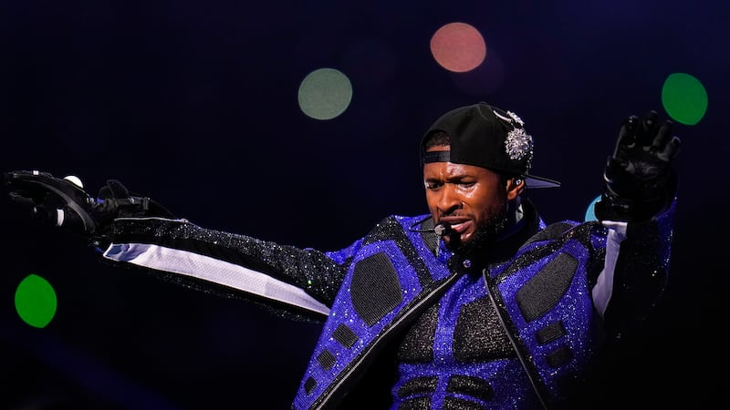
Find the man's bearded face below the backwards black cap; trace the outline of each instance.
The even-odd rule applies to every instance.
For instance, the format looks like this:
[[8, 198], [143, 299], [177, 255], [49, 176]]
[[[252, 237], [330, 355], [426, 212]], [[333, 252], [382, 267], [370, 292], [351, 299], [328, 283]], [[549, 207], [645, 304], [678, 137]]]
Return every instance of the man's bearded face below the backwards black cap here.
[[443, 240], [454, 251], [467, 251], [494, 239], [506, 223], [507, 200], [516, 196], [494, 171], [451, 162], [425, 164], [423, 183], [433, 220], [452, 227], [453, 233]]

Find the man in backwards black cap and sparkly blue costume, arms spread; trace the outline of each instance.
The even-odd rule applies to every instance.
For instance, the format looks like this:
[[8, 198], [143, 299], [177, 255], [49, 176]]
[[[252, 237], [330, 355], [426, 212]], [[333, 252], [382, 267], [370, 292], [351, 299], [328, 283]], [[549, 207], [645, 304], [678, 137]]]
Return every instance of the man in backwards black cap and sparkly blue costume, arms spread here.
[[339, 251], [211, 231], [110, 180], [91, 198], [37, 171], [5, 175], [36, 217], [104, 261], [324, 321], [293, 407], [567, 406], [602, 343], [630, 330], [669, 269], [679, 151], [651, 111], [620, 128], [600, 221], [540, 219], [533, 140], [516, 114], [455, 108], [422, 138], [429, 215], [393, 215]]

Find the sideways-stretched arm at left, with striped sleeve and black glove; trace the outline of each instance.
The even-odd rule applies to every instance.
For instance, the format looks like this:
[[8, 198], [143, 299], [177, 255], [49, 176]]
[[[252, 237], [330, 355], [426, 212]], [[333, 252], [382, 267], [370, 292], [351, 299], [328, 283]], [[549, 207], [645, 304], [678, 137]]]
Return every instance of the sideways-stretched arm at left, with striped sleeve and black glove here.
[[257, 302], [275, 313], [323, 319], [344, 275], [338, 253], [206, 230], [176, 219], [116, 179], [93, 198], [76, 178], [40, 171], [12, 171], [4, 177], [12, 200], [29, 208], [36, 220], [86, 238], [104, 261]]

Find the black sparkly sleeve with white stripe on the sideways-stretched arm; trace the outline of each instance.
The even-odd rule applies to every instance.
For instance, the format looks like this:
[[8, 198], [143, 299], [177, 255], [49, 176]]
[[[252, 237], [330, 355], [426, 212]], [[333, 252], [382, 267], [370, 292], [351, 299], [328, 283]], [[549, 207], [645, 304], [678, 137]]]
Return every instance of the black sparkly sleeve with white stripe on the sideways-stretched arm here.
[[316, 320], [327, 316], [346, 270], [338, 262], [346, 258], [337, 253], [162, 218], [115, 220], [112, 242], [102, 256], [106, 261], [143, 268], [166, 281]]

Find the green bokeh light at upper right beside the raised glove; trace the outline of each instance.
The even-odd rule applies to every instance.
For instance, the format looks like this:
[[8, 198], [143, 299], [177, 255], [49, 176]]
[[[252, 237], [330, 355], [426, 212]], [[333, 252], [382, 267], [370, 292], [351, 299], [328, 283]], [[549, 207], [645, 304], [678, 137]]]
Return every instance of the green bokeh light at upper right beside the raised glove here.
[[707, 111], [707, 91], [697, 78], [673, 73], [664, 81], [662, 105], [675, 121], [695, 125]]

